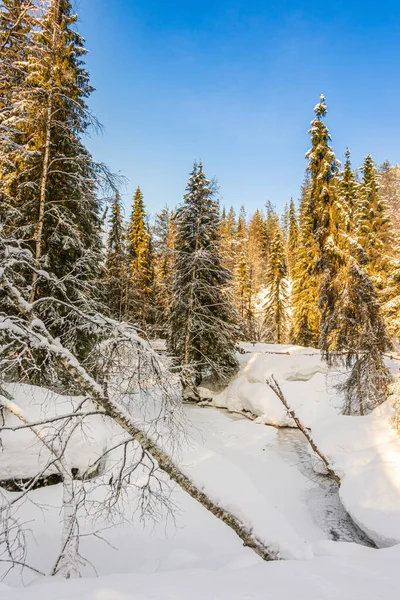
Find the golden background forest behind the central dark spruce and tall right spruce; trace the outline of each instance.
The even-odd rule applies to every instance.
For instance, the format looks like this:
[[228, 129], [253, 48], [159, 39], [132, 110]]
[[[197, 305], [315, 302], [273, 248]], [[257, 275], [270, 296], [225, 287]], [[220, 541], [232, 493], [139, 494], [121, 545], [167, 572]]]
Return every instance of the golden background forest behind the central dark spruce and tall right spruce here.
[[[323, 102], [320, 110], [325, 110]], [[327, 131], [326, 136], [328, 140]], [[398, 336], [400, 167], [385, 162], [377, 168], [367, 155], [353, 170], [349, 150], [342, 167], [335, 158], [332, 161], [329, 193], [337, 206], [335, 214], [329, 210], [325, 218], [338, 231], [343, 227], [341, 243], [347, 238], [361, 252], [360, 264], [376, 289], [388, 331]], [[315, 191], [310, 162], [299, 206], [291, 198], [281, 215], [271, 202], [252, 215], [244, 206], [239, 214], [233, 207], [218, 207], [219, 252], [232, 274], [227, 301], [236, 311], [242, 340], [320, 346], [322, 280], [314, 268], [320, 252]], [[114, 198], [106, 250], [109, 306], [114, 316], [137, 321], [152, 336], [168, 333], [176, 214], [176, 207], [165, 206], [150, 224], [138, 188], [125, 224], [119, 194]]]

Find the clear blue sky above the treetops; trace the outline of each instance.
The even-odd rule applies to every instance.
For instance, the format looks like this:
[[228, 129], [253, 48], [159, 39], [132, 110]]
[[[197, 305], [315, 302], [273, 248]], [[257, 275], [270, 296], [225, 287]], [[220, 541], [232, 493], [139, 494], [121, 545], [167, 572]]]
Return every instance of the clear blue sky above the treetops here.
[[342, 158], [400, 161], [400, 2], [79, 0], [104, 133], [128, 207], [179, 203], [193, 160], [251, 213], [298, 197], [320, 93]]

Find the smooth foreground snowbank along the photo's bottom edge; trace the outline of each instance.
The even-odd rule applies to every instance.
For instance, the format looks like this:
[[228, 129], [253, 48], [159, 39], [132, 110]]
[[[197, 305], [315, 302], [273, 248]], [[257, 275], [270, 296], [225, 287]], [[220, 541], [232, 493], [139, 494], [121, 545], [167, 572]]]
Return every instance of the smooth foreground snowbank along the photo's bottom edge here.
[[24, 590], [0, 584], [0, 597], [4, 600], [397, 600], [399, 548], [376, 554], [250, 565], [242, 561], [215, 570], [187, 568], [44, 581]]

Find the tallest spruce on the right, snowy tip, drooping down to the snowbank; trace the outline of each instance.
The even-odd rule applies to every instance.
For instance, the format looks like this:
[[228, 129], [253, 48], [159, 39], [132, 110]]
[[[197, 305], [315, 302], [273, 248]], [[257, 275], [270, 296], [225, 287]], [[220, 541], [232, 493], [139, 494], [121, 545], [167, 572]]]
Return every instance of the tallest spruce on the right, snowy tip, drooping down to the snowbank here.
[[317, 106], [311, 129], [311, 204], [314, 237], [318, 247], [315, 268], [321, 276], [321, 352], [329, 365], [350, 369], [339, 386], [347, 414], [364, 414], [387, 397], [390, 375], [382, 353], [389, 338], [374, 285], [364, 271], [367, 261], [352, 238], [351, 214], [355, 206], [350, 156], [342, 180], [321, 119], [325, 104]]

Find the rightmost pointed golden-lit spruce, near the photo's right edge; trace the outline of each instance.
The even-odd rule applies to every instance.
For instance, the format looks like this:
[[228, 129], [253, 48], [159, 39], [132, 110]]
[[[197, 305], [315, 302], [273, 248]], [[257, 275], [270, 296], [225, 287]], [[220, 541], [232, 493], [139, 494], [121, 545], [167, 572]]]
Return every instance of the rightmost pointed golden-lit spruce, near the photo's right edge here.
[[380, 194], [377, 170], [370, 154], [364, 160], [362, 173], [357, 213], [358, 240], [368, 256], [368, 274], [379, 291], [387, 284], [392, 232], [388, 207]]

